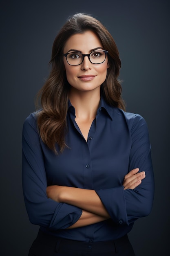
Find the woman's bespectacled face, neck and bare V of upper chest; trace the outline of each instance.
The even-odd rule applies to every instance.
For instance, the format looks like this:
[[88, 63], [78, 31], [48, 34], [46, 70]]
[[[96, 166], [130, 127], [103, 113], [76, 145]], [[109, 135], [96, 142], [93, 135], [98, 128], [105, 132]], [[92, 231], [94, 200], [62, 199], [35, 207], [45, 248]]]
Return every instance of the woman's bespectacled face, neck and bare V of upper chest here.
[[64, 52], [67, 52], [64, 67], [71, 85], [69, 99], [75, 107], [75, 121], [86, 141], [99, 106], [100, 86], [106, 80], [109, 67], [107, 51], [102, 49], [101, 41], [90, 30], [71, 36], [64, 46]]

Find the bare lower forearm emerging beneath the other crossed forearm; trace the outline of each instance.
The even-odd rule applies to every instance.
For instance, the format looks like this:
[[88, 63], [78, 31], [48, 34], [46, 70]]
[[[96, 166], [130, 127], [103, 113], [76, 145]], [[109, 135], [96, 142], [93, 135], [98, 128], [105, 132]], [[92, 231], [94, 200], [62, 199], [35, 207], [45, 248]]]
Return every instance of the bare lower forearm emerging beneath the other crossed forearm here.
[[68, 227], [68, 229], [74, 229], [77, 227], [84, 227], [84, 226], [88, 226], [91, 224], [95, 224], [97, 222], [101, 222], [104, 220], [107, 220], [108, 218], [96, 215], [94, 213], [88, 212], [88, 211], [82, 211], [82, 215], [79, 218], [79, 220], [77, 220], [77, 222], [75, 222], [75, 224], [73, 224], [72, 226]]

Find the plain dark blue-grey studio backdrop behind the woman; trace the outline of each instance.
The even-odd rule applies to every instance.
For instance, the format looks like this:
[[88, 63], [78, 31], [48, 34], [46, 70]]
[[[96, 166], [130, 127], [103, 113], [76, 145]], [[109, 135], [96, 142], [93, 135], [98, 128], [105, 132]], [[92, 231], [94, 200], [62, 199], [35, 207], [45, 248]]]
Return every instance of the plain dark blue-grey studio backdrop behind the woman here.
[[[142, 115], [152, 144], [155, 200], [129, 234], [136, 256], [169, 255], [170, 4], [167, 0], [4, 0], [1, 20], [0, 254], [26, 256], [38, 227], [22, 195], [22, 125], [49, 74], [53, 40], [68, 16], [92, 14], [115, 39], [127, 111]], [[31, 189], [31, 188], [30, 188]]]

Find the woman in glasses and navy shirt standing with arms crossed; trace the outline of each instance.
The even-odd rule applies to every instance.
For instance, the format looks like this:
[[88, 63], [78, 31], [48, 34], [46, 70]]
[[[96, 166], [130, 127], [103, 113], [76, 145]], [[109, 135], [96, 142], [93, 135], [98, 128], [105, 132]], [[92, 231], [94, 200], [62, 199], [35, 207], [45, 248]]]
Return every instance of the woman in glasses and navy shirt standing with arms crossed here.
[[53, 43], [42, 108], [23, 126], [29, 256], [135, 255], [127, 233], [152, 208], [145, 120], [126, 113], [115, 41], [95, 18], [69, 18]]

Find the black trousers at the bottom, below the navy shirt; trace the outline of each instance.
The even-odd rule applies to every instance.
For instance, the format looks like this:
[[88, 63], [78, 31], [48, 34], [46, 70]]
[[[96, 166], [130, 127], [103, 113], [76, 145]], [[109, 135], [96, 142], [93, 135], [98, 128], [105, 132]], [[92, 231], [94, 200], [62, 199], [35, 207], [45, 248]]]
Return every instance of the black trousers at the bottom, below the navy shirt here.
[[80, 242], [38, 232], [28, 256], [135, 256], [125, 235], [117, 240]]

